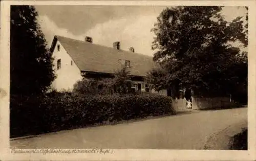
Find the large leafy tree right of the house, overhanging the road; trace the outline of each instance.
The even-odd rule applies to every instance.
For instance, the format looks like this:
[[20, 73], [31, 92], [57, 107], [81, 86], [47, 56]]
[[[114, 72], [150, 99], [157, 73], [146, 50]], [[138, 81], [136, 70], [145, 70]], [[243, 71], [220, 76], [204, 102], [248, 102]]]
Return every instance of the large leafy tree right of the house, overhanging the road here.
[[156, 35], [153, 59], [159, 67], [149, 73], [157, 90], [182, 85], [198, 95], [227, 95], [236, 84], [234, 78], [244, 77], [245, 68], [228, 73], [239, 68], [234, 60], [240, 53], [228, 43], [247, 43], [242, 17], [227, 22], [221, 10], [219, 6], [184, 6], [160, 13], [152, 29]]

